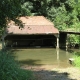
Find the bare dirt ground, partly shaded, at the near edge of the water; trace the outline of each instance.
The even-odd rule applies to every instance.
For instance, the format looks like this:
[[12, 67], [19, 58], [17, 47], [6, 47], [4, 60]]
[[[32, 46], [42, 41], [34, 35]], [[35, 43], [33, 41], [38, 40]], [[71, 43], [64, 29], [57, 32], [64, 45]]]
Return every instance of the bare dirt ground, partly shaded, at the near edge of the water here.
[[80, 80], [80, 70], [74, 67], [58, 68], [51, 65], [25, 66], [33, 71], [35, 80]]

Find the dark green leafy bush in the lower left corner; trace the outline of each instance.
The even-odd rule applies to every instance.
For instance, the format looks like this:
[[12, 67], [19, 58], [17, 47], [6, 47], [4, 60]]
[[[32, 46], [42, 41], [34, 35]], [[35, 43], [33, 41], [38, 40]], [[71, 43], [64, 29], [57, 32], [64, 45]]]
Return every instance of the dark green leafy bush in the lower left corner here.
[[32, 72], [21, 69], [9, 51], [0, 51], [0, 80], [34, 80]]

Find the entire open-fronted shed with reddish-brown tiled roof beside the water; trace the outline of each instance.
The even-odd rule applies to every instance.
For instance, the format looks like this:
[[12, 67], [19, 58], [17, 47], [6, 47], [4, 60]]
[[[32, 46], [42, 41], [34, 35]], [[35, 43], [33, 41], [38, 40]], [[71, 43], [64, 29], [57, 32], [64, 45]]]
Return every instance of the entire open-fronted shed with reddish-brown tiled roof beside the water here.
[[11, 21], [3, 34], [2, 47], [59, 48], [59, 31], [48, 19], [43, 16], [26, 16], [19, 19], [24, 27], [19, 28]]

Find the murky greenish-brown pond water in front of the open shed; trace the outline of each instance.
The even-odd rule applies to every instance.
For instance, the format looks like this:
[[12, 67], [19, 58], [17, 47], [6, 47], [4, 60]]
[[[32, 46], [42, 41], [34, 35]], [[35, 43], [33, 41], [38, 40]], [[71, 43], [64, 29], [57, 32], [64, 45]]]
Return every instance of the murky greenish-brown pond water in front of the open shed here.
[[73, 52], [54, 48], [17, 49], [14, 51], [16, 60], [23, 65], [54, 65], [69, 67], [69, 58]]

